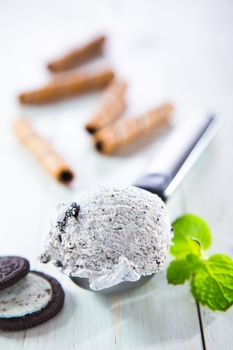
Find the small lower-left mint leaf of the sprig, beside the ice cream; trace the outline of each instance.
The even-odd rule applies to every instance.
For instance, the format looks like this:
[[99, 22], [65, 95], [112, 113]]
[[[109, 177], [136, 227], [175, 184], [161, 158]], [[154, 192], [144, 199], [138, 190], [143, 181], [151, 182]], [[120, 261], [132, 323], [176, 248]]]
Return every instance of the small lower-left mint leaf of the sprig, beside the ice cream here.
[[191, 272], [191, 266], [187, 260], [173, 260], [167, 268], [167, 281], [170, 284], [183, 284], [191, 277]]

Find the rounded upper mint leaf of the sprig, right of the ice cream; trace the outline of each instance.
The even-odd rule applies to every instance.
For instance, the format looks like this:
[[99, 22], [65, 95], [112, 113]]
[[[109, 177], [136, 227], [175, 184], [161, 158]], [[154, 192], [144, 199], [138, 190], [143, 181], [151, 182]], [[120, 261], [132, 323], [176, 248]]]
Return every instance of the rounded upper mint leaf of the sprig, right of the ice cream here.
[[189, 254], [201, 256], [201, 250], [211, 244], [211, 232], [207, 223], [196, 215], [185, 214], [173, 223], [174, 237], [170, 253], [178, 259]]

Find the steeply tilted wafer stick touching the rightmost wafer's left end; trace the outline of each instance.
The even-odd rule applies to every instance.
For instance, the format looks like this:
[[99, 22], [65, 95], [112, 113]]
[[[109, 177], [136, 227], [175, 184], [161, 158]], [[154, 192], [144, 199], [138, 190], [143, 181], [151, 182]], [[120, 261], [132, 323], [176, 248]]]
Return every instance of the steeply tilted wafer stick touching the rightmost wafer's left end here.
[[86, 124], [86, 130], [93, 134], [117, 119], [123, 112], [126, 84], [122, 81], [113, 81], [104, 94], [103, 101], [96, 114]]

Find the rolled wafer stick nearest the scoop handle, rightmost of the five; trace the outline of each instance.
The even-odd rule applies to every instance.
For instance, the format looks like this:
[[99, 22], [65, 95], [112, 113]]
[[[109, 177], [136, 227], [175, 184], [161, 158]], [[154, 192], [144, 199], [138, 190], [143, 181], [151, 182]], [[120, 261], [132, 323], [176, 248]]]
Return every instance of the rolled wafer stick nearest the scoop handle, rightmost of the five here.
[[121, 119], [93, 135], [95, 146], [100, 152], [111, 154], [119, 147], [169, 123], [172, 111], [172, 105], [166, 103], [136, 118]]

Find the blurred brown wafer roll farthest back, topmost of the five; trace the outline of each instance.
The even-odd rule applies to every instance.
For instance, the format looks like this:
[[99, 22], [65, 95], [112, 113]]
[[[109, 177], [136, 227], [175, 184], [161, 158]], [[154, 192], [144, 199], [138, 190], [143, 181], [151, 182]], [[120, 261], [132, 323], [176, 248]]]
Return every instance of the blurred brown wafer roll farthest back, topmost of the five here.
[[105, 40], [104, 36], [92, 39], [63, 57], [50, 62], [48, 69], [54, 73], [62, 72], [91, 60], [102, 53]]

